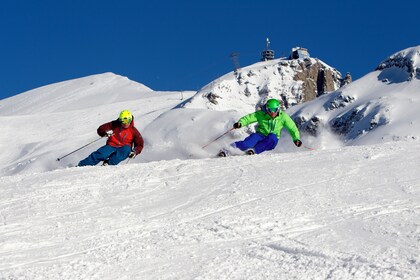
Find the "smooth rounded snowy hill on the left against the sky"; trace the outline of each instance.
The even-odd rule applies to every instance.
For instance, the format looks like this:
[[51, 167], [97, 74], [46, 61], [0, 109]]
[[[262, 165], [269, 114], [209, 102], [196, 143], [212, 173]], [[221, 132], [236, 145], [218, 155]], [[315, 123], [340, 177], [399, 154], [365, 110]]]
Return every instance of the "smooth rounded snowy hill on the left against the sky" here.
[[67, 112], [141, 98], [152, 90], [104, 73], [36, 88], [0, 101], [0, 115]]

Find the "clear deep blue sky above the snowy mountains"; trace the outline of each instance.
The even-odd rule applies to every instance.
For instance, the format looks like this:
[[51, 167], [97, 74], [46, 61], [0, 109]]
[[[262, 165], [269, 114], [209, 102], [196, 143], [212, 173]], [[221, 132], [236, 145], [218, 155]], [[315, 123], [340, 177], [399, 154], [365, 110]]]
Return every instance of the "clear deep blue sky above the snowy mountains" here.
[[0, 99], [113, 72], [154, 90], [198, 90], [301, 46], [357, 79], [420, 45], [420, 1], [3, 0]]

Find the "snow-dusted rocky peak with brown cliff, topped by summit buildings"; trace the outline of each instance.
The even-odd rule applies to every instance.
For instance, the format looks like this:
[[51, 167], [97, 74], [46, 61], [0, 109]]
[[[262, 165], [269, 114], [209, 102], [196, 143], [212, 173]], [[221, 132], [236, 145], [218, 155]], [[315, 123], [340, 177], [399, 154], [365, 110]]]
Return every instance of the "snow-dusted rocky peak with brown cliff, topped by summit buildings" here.
[[[307, 54], [237, 69], [203, 87], [184, 107], [250, 111], [258, 109], [268, 98], [277, 98], [282, 101], [283, 109], [287, 109], [344, 84], [339, 71]], [[232, 100], [237, 100], [242, 108], [232, 107], [235, 104]]]

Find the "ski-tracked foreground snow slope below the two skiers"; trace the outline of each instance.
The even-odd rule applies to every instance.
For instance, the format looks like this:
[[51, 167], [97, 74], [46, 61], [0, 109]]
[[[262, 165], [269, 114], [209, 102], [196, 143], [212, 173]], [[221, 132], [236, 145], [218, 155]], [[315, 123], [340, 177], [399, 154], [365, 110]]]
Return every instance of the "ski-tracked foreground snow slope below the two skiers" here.
[[1, 177], [0, 279], [418, 279], [419, 152], [398, 142]]

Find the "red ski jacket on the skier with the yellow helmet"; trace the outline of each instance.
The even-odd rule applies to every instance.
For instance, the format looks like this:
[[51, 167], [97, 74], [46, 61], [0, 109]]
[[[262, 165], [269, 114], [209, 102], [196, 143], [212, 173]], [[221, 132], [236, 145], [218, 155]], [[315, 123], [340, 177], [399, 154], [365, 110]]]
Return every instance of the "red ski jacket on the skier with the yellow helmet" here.
[[114, 135], [108, 138], [106, 141], [107, 145], [117, 148], [122, 146], [130, 146], [130, 148], [133, 148], [134, 146], [134, 152], [136, 155], [140, 154], [143, 150], [143, 137], [137, 128], [134, 127], [134, 118], [128, 128], [122, 127], [120, 121], [117, 119], [101, 125], [98, 127], [97, 132], [99, 136], [104, 137], [106, 136], [106, 132], [108, 130], [114, 131]]

